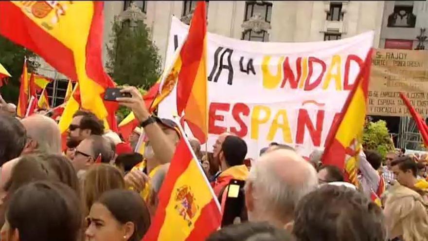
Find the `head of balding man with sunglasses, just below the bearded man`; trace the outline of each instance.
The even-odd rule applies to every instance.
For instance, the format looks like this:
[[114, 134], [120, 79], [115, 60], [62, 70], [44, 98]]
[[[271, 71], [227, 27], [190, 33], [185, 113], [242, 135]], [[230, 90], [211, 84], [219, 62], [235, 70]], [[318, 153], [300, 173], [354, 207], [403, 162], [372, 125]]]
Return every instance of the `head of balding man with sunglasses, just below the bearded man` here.
[[80, 142], [76, 147], [74, 157], [71, 160], [79, 177], [93, 164], [97, 162], [109, 163], [112, 159], [110, 143], [105, 137], [91, 135]]

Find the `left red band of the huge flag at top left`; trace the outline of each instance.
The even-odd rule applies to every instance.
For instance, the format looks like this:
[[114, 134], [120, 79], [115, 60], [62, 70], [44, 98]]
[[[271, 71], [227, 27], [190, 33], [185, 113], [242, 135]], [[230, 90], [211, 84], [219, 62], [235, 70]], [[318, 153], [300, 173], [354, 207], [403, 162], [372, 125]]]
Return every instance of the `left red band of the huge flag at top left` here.
[[[10, 1], [0, 1], [0, 35], [43, 56], [52, 67], [77, 79], [71, 50], [40, 28]], [[37, 39], [37, 44], [33, 39]]]

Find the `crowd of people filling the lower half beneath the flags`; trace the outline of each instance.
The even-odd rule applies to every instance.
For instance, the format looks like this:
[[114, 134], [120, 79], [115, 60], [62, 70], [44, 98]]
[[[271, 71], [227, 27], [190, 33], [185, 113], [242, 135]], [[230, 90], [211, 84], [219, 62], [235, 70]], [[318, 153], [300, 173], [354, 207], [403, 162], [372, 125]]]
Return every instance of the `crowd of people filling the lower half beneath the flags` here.
[[[180, 138], [176, 122], [151, 115], [136, 88], [118, 98], [141, 127], [128, 140], [104, 129], [93, 113], [77, 111], [67, 148], [50, 117], [17, 118], [0, 106], [1, 241], [140, 241], [159, 204], [158, 194]], [[144, 153], [134, 152], [145, 135]], [[358, 155], [358, 185], [343, 170], [272, 143], [247, 160], [247, 144], [218, 136], [213, 152], [190, 140], [223, 206], [232, 181], [245, 183], [233, 222], [208, 241], [426, 241], [427, 154], [374, 150]], [[375, 198], [374, 198], [375, 197]], [[375, 199], [381, 202], [376, 203]], [[225, 211], [225, 210], [223, 210]], [[223, 213], [223, 216], [225, 213]]]

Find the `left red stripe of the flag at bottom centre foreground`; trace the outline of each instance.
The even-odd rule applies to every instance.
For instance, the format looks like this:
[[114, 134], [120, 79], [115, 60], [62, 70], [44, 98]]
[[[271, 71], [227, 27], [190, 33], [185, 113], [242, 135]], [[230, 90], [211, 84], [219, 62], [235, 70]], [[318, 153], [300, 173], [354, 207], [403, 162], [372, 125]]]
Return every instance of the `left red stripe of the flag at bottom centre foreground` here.
[[[177, 150], [186, 150], [188, 149], [186, 142], [180, 140], [178, 142]], [[179, 161], [174, 161], [176, 158], [179, 158]], [[163, 221], [165, 220], [165, 208], [169, 203], [171, 194], [173, 193], [174, 186], [177, 182], [179, 176], [183, 174], [184, 171], [189, 167], [190, 162], [192, 162], [193, 156], [190, 151], [182, 151], [181, 153], [175, 153], [173, 160], [171, 160], [171, 166], [168, 168], [168, 173], [165, 176], [162, 187], [159, 192], [159, 205], [156, 210], [152, 224], [150, 225], [149, 230], [144, 235], [143, 241], [154, 241], [159, 237], [160, 229], [162, 228]], [[180, 163], [181, 162], [181, 163]], [[177, 163], [178, 165], [174, 165]]]

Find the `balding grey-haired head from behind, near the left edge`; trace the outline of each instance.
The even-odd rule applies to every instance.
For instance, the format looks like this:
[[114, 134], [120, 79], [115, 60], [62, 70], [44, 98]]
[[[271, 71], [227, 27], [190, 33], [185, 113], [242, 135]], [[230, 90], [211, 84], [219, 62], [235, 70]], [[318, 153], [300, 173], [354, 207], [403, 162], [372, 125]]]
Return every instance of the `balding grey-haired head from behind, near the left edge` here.
[[61, 133], [53, 119], [36, 114], [22, 119], [21, 123], [29, 138], [24, 153], [35, 150], [61, 153]]

